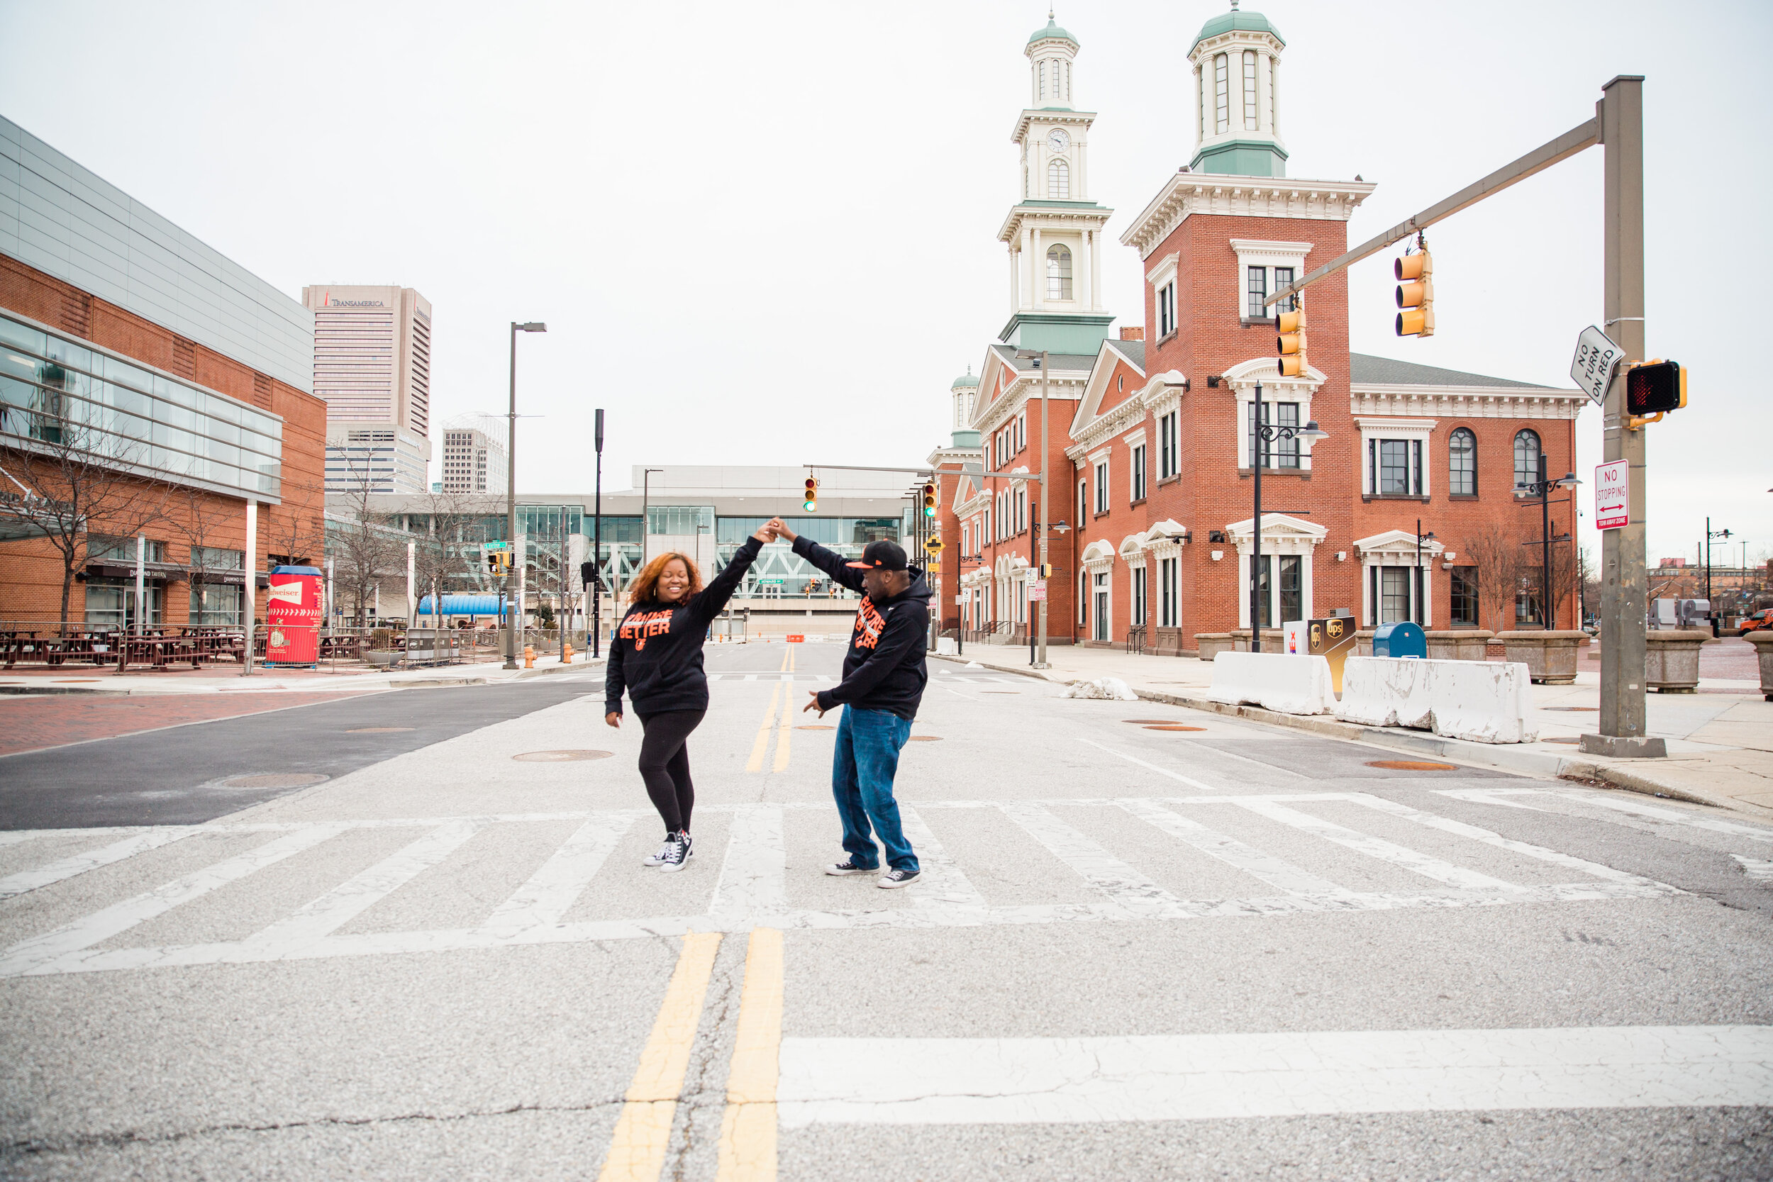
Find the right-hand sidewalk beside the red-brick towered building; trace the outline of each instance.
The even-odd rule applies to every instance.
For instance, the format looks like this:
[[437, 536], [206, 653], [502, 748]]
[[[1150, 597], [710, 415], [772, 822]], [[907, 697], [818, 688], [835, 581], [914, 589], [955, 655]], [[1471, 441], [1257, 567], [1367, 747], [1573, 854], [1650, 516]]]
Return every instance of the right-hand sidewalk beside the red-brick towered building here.
[[[1729, 659], [1736, 654], [1718, 656]], [[1356, 727], [1330, 714], [1277, 714], [1254, 705], [1209, 702], [1206, 689], [1213, 682], [1213, 663], [1195, 657], [1131, 656], [1113, 649], [1058, 645], [1046, 650], [1051, 668], [1035, 672], [1028, 668], [1027, 645], [968, 645], [963, 656], [940, 659], [959, 665], [977, 661], [989, 670], [1044, 677], [1058, 684], [1119, 677], [1151, 702], [1358, 739], [1463, 764], [1599, 780], [1635, 792], [1773, 817], [1773, 702], [1762, 702], [1757, 680], [1700, 677], [1699, 693], [1652, 693], [1647, 730], [1667, 741], [1668, 758], [1601, 758], [1576, 751], [1578, 735], [1592, 728], [1599, 714], [1597, 663], [1592, 670], [1580, 672], [1573, 686], [1532, 688], [1537, 743], [1489, 744], [1441, 739], [1427, 730], [1402, 727]], [[1734, 672], [1730, 665], [1725, 670]]]

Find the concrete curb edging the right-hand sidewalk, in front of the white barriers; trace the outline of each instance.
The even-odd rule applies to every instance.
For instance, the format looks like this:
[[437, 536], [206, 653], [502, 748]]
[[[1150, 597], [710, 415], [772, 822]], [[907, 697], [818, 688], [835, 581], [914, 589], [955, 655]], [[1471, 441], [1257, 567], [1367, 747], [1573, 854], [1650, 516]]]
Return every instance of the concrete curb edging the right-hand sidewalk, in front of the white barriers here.
[[[965, 663], [968, 657], [959, 656], [938, 656], [931, 652], [929, 656], [938, 661], [959, 661]], [[1019, 670], [998, 665], [988, 665], [977, 661], [982, 668], [995, 673], [1016, 673], [1019, 677], [1035, 677], [1039, 680], [1066, 684], [1057, 677], [1048, 677], [1039, 670]], [[1211, 714], [1225, 714], [1227, 718], [1243, 718], [1252, 723], [1268, 723], [1271, 727], [1289, 727], [1293, 730], [1307, 730], [1319, 735], [1328, 735], [1332, 739], [1347, 739], [1353, 743], [1365, 743], [1369, 746], [1390, 748], [1395, 751], [1408, 751], [1411, 755], [1434, 755], [1438, 758], [1447, 758], [1473, 767], [1495, 767], [1498, 771], [1518, 771], [1534, 776], [1546, 776], [1551, 780], [1576, 778], [1576, 780], [1597, 780], [1615, 789], [1624, 789], [1628, 792], [1644, 792], [1645, 796], [1661, 796], [1675, 801], [1686, 801], [1688, 805], [1707, 805], [1711, 808], [1736, 808], [1741, 810], [1741, 801], [1727, 796], [1707, 796], [1693, 792], [1691, 789], [1679, 789], [1672, 783], [1663, 783], [1656, 776], [1645, 776], [1624, 767], [1610, 764], [1596, 764], [1590, 760], [1569, 758], [1566, 755], [1553, 755], [1550, 751], [1516, 751], [1509, 748], [1475, 748], [1473, 744], [1459, 743], [1456, 739], [1441, 739], [1427, 732], [1401, 732], [1401, 730], [1383, 730], [1378, 727], [1360, 727], [1356, 723], [1344, 723], [1333, 718], [1316, 718], [1310, 714], [1280, 714], [1277, 711], [1264, 711], [1259, 705], [1227, 705], [1225, 702], [1213, 702], [1209, 698], [1191, 698], [1179, 693], [1163, 693], [1158, 689], [1133, 689], [1145, 702], [1163, 702], [1167, 705], [1181, 705], [1191, 711], [1206, 711]]]

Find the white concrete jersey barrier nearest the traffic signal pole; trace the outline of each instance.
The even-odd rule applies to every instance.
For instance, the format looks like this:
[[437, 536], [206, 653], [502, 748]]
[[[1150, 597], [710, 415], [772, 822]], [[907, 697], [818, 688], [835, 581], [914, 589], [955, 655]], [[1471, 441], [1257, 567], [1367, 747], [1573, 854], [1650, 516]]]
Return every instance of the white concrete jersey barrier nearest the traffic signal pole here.
[[1473, 743], [1532, 743], [1527, 665], [1349, 657], [1335, 716], [1363, 727], [1415, 727]]

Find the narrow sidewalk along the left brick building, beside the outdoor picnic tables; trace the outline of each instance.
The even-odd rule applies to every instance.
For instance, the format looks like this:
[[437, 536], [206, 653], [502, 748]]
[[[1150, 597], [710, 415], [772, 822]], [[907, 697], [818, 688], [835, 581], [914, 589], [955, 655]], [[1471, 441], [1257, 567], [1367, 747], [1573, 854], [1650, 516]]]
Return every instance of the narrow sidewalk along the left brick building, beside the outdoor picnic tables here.
[[[521, 665], [521, 657], [518, 659]], [[507, 670], [502, 661], [463, 665], [436, 665], [411, 670], [379, 670], [371, 666], [344, 666], [330, 670], [282, 670], [254, 666], [243, 677], [238, 665], [211, 665], [199, 670], [129, 672], [69, 665], [64, 668], [21, 668], [0, 672], [0, 702], [7, 695], [186, 695], [186, 693], [261, 693], [266, 689], [300, 689], [307, 693], [365, 693], [379, 689], [418, 689], [431, 686], [486, 686], [498, 680], [525, 680], [550, 673], [574, 673], [583, 668], [603, 668], [603, 659], [573, 654], [571, 665], [560, 665], [560, 656], [535, 656], [535, 668]]]

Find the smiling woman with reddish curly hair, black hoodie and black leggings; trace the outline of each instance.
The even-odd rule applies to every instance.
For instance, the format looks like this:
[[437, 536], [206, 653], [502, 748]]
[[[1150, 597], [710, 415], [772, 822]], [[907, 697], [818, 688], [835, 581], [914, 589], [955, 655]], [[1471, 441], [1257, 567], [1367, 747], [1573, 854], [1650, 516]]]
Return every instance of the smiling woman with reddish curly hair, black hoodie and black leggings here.
[[707, 677], [702, 673], [702, 638], [707, 626], [732, 599], [746, 567], [764, 542], [768, 528], [752, 533], [727, 569], [702, 587], [695, 564], [679, 553], [660, 555], [640, 571], [628, 594], [628, 613], [610, 643], [605, 673], [605, 718], [622, 725], [622, 689], [635, 702], [645, 737], [640, 741], [640, 778], [665, 820], [665, 844], [645, 859], [665, 874], [683, 870], [691, 852], [690, 732], [707, 712]]

